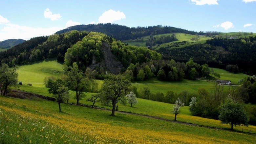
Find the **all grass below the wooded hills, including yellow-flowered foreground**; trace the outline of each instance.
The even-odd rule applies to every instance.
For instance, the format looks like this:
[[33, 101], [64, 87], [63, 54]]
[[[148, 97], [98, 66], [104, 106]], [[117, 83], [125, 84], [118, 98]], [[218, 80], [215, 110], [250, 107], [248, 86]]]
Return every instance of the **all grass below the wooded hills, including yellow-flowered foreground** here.
[[[221, 79], [224, 80], [238, 81], [247, 77], [245, 74], [232, 74], [217, 68], [214, 68], [214, 71], [220, 73]], [[20, 90], [52, 97], [48, 93], [48, 88], [44, 87], [43, 79], [46, 76], [61, 76], [63, 70], [62, 65], [56, 60], [48, 60], [22, 65], [18, 73], [19, 81], [25, 82], [19, 86]], [[100, 80], [96, 81], [102, 83]], [[33, 86], [26, 83], [32, 83]], [[165, 82], [151, 79], [134, 81], [132, 84], [137, 85], [138, 89], [148, 87], [152, 93], [160, 91], [164, 94], [169, 90], [176, 93], [183, 90], [195, 93], [198, 88], [211, 90], [213, 87], [213, 82], [191, 80]], [[70, 102], [75, 103], [75, 93], [70, 91], [70, 95]], [[92, 93], [86, 93], [86, 97], [79, 102], [90, 105], [91, 103], [86, 99], [91, 95]], [[174, 119], [171, 113], [173, 104], [138, 99], [138, 104], [133, 107], [118, 105], [119, 111]], [[111, 106], [99, 102], [96, 102], [96, 106], [112, 109]], [[0, 97], [0, 120], [6, 121], [0, 124], [0, 130], [3, 133], [0, 135], [0, 143], [1, 141], [29, 143], [30, 140], [32, 143], [39, 141], [44, 143], [65, 143], [65, 141], [67, 143], [190, 143], [191, 141], [193, 143], [255, 143], [255, 135], [226, 131], [230, 128], [229, 125], [221, 124], [219, 120], [192, 116], [188, 108], [188, 106], [181, 108], [181, 113], [177, 116], [178, 121], [224, 130], [206, 129], [121, 113], [117, 113], [116, 117], [110, 117], [110, 112], [106, 110], [67, 104], [62, 104], [63, 113], [58, 113], [56, 102]], [[117, 130], [113, 131], [113, 128]], [[256, 134], [256, 126], [252, 125], [234, 127], [234, 129]], [[186, 139], [181, 136], [185, 136]]]

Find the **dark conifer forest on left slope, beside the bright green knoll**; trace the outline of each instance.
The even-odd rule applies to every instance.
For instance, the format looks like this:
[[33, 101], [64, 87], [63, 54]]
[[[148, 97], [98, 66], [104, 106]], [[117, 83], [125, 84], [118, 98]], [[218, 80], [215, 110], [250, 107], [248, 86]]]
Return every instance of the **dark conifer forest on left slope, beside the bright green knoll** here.
[[70, 31], [64, 34], [54, 34], [49, 37], [32, 38], [0, 53], [1, 63], [9, 65], [24, 64], [57, 57], [64, 62], [67, 49], [86, 36], [88, 32]]

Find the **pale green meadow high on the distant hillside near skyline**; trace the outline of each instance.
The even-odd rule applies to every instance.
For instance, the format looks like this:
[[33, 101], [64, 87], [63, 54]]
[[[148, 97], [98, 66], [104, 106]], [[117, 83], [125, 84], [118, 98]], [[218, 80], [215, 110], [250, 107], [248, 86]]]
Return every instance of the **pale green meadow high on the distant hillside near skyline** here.
[[[158, 35], [155, 35], [154, 37], [163, 36], [163, 35], [172, 35], [172, 33], [158, 34]], [[197, 37], [196, 35], [184, 34], [184, 33], [175, 33], [175, 35], [176, 35], [176, 38], [178, 39], [178, 41], [174, 41], [174, 42], [182, 42], [182, 41], [194, 42], [194, 41], [191, 41], [191, 38]], [[142, 37], [143, 40], [140, 42], [137, 42], [136, 40], [126, 40], [123, 42], [128, 43], [129, 45], [146, 46], [146, 41], [148, 40], [148, 38], [149, 38], [149, 36], [144, 36], [144, 37]], [[210, 37], [200, 36], [200, 41], [198, 41], [197, 43], [206, 42], [207, 39], [210, 39]], [[170, 42], [170, 43], [174, 43], [174, 42]], [[166, 43], [166, 44], [168, 44], [168, 43]]]

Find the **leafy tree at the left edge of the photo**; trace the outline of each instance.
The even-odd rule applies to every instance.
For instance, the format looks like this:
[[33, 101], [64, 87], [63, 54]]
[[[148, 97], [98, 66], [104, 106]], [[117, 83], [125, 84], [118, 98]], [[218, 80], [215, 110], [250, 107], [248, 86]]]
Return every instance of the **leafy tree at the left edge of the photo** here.
[[[18, 82], [18, 66], [9, 67], [8, 64], [2, 63], [0, 66], [0, 84], [1, 84], [1, 94], [7, 96], [8, 87], [16, 86]], [[4, 92], [3, 92], [4, 91]]]

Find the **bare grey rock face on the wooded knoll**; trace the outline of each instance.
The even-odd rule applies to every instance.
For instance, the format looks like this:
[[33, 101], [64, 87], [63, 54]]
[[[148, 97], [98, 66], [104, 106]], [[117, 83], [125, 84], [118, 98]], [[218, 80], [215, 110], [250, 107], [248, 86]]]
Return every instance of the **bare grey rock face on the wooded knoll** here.
[[96, 67], [104, 67], [112, 74], [119, 74], [124, 67], [122, 63], [117, 60], [117, 57], [111, 52], [108, 43], [102, 43], [102, 50], [104, 56], [103, 60], [100, 63], [97, 63], [95, 57], [93, 57], [92, 64], [89, 67], [91, 69], [95, 69]]

